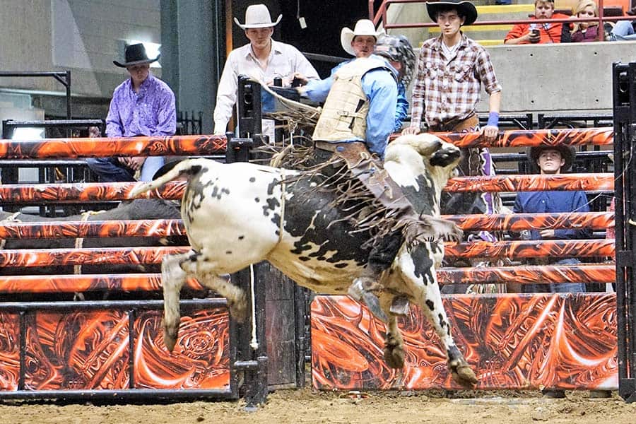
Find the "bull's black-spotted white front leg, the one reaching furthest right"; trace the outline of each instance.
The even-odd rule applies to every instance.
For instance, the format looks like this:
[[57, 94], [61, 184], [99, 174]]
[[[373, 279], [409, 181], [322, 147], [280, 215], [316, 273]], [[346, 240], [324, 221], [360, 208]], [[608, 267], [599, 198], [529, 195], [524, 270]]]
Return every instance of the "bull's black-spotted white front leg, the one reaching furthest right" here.
[[430, 243], [423, 243], [415, 247], [410, 254], [401, 252], [396, 264], [407, 285], [413, 284], [413, 298], [421, 300], [418, 303], [422, 311], [440, 336], [453, 379], [461, 386], [472, 388], [478, 380], [453, 340], [433, 265], [435, 255], [430, 246]]

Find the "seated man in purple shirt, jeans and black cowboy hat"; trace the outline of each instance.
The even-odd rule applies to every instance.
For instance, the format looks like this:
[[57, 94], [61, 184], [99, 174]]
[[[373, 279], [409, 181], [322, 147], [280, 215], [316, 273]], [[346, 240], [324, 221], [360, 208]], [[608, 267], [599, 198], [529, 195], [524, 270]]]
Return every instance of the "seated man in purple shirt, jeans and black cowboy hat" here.
[[[150, 64], [143, 44], [126, 47], [126, 61], [116, 66], [126, 68], [130, 78], [115, 88], [106, 117], [107, 137], [172, 136], [177, 129], [175, 94], [166, 83], [150, 73]], [[135, 181], [141, 170], [141, 181], [151, 181], [163, 165], [164, 158], [90, 158], [88, 167], [102, 182]]]

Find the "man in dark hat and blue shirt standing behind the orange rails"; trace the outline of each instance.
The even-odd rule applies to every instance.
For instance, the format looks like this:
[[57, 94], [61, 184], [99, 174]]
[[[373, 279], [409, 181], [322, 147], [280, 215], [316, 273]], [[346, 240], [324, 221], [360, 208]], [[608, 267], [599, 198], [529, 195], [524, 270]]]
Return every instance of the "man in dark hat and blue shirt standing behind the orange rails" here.
[[[576, 151], [569, 146], [536, 146], [526, 151], [532, 167], [541, 175], [558, 175], [570, 169]], [[589, 212], [585, 192], [521, 192], [514, 201], [513, 213]], [[576, 240], [591, 236], [589, 229], [544, 229], [522, 232], [525, 240]], [[578, 264], [579, 259], [531, 259], [533, 264]], [[582, 293], [583, 283], [524, 284], [523, 293]]]

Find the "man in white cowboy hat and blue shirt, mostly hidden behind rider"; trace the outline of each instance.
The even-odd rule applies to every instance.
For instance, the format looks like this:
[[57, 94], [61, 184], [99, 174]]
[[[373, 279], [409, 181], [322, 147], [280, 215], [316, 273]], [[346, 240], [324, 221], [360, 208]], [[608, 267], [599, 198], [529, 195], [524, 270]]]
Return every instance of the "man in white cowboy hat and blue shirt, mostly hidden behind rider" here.
[[[348, 54], [352, 56], [358, 57], [369, 57], [373, 53], [373, 49], [375, 47], [375, 42], [378, 37], [384, 34], [384, 30], [376, 30], [373, 22], [368, 19], [360, 19], [355, 23], [355, 27], [353, 31], [349, 28], [342, 28], [340, 33], [340, 42], [342, 48]], [[404, 42], [408, 43], [410, 46], [411, 43], [406, 40], [406, 37], [399, 35], [398, 37], [402, 37]], [[334, 75], [343, 64], [346, 64], [350, 61], [344, 61], [338, 66], [331, 69], [331, 75]], [[415, 64], [413, 64], [415, 66]], [[409, 77], [411, 75], [409, 74]], [[397, 98], [397, 107], [395, 110], [395, 128], [394, 132], [400, 131], [402, 129], [402, 122], [406, 119], [406, 114], [408, 113], [408, 100], [406, 100], [406, 86], [410, 82], [409, 78], [403, 78], [398, 83], [398, 98]]]

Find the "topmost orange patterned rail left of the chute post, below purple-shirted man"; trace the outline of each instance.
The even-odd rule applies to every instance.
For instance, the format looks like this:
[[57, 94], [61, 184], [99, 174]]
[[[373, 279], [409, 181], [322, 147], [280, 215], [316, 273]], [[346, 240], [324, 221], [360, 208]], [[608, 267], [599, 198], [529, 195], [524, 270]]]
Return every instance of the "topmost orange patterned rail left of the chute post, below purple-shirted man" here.
[[2, 159], [102, 158], [108, 156], [213, 155], [225, 153], [225, 136], [166, 136], [0, 140]]

